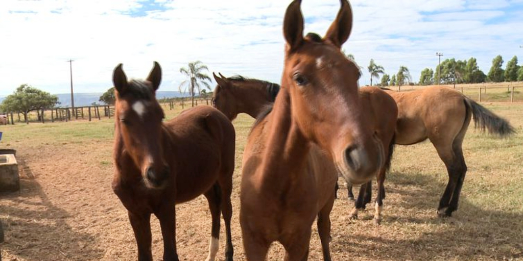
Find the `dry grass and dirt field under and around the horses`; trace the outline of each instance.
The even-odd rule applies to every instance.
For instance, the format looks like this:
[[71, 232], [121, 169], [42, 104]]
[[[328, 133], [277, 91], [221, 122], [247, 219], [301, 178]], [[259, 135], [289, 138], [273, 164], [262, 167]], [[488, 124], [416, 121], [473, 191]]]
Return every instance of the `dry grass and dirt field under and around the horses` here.
[[[349, 221], [352, 204], [341, 189], [332, 219], [333, 260], [523, 260], [523, 103], [483, 103], [507, 118], [518, 134], [496, 139], [474, 131], [463, 149], [469, 171], [459, 210], [436, 217], [447, 174], [434, 147], [424, 142], [397, 146], [385, 181], [381, 226], [370, 211]], [[166, 111], [173, 117], [179, 110]], [[238, 224], [241, 159], [253, 119], [240, 115], [232, 195], [235, 260], [245, 260]], [[17, 150], [19, 193], [0, 195], [6, 240], [2, 260], [135, 260], [132, 230], [124, 207], [112, 193], [113, 120], [0, 126], [0, 148]], [[345, 184], [340, 182], [344, 188]], [[374, 186], [375, 187], [375, 186]], [[374, 193], [373, 195], [376, 195]], [[207, 257], [210, 212], [204, 197], [177, 206], [180, 260]], [[153, 255], [162, 254], [153, 218]], [[219, 260], [223, 260], [224, 227]], [[269, 260], [282, 260], [275, 244]], [[321, 260], [315, 225], [309, 260]]]

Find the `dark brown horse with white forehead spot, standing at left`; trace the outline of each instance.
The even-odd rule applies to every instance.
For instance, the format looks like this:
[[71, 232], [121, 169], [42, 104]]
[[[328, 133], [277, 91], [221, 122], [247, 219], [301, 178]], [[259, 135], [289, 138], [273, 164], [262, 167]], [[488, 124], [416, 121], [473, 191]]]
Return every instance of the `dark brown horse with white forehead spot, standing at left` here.
[[198, 106], [162, 123], [164, 113], [155, 98], [161, 79], [156, 62], [147, 80], [127, 81], [121, 64], [113, 73], [116, 172], [112, 188], [128, 210], [138, 260], [152, 260], [151, 213], [160, 220], [163, 260], [179, 260], [175, 204], [203, 194], [212, 216], [207, 260], [214, 260], [218, 252], [221, 211], [227, 237], [225, 260], [232, 261], [234, 127], [211, 106]]

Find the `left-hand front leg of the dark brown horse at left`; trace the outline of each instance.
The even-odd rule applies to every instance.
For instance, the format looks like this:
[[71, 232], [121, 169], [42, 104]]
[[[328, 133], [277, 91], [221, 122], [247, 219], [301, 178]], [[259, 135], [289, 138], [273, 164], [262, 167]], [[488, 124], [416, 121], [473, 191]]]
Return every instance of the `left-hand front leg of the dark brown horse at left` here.
[[151, 213], [134, 213], [127, 211], [134, 238], [138, 245], [138, 261], [152, 261], [151, 252]]

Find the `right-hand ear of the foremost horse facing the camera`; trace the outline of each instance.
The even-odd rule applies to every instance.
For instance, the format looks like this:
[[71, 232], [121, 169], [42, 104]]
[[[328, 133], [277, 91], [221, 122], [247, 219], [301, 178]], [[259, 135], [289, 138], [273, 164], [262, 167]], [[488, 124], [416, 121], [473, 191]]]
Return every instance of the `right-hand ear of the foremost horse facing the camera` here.
[[347, 0], [341, 0], [341, 2], [342, 6], [339, 8], [336, 20], [329, 27], [324, 37], [337, 48], [342, 48], [342, 44], [349, 39], [350, 31], [353, 29], [353, 9]]

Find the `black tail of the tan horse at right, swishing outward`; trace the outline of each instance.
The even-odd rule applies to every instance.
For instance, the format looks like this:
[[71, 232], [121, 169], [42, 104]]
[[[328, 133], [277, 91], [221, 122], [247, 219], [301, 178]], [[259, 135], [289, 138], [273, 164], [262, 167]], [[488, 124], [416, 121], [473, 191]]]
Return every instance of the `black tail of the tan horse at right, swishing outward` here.
[[483, 132], [488, 129], [488, 133], [496, 134], [499, 137], [506, 137], [516, 133], [514, 127], [512, 127], [504, 118], [497, 116], [482, 105], [468, 97], [465, 97], [465, 103], [472, 111], [475, 128], [480, 128]]

